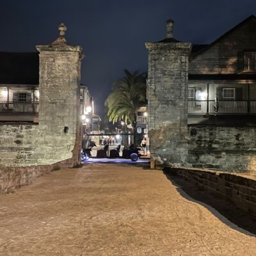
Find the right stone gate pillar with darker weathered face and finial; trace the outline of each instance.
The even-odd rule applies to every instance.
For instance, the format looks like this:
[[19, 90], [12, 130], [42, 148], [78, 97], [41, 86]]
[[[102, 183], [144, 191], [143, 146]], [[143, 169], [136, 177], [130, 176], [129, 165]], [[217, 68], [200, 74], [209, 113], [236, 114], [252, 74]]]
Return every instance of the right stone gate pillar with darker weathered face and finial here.
[[173, 38], [173, 20], [167, 37], [146, 43], [148, 49], [148, 132], [151, 163], [180, 166], [186, 158], [188, 132], [188, 58], [191, 43]]

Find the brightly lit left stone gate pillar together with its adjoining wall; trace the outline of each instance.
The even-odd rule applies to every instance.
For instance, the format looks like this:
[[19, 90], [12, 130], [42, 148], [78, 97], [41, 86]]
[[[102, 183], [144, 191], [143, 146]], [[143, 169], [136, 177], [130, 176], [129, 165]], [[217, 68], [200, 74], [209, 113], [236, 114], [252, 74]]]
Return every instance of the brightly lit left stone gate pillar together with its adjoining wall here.
[[54, 164], [70, 159], [81, 163], [79, 118], [80, 46], [68, 45], [66, 27], [40, 52], [40, 109], [38, 125], [0, 125], [0, 167]]

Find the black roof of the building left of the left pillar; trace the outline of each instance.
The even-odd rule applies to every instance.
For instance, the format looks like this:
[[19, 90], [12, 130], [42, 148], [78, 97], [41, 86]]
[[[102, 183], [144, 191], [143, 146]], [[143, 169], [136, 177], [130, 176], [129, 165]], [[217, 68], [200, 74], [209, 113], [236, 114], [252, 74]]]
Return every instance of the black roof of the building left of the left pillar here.
[[0, 84], [38, 83], [38, 52], [0, 52]]

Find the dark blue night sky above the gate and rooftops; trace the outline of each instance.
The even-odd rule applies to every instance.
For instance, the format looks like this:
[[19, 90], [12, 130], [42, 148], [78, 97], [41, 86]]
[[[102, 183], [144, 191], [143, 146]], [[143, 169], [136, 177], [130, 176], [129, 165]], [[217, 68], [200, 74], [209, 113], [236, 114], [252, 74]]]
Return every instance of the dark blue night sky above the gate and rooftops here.
[[23, 0], [2, 1], [0, 51], [36, 51], [58, 37], [67, 26], [69, 44], [81, 45], [86, 55], [81, 82], [104, 113], [104, 101], [123, 70], [147, 71], [145, 42], [165, 38], [165, 22], [175, 21], [180, 41], [209, 44], [248, 16], [255, 0]]

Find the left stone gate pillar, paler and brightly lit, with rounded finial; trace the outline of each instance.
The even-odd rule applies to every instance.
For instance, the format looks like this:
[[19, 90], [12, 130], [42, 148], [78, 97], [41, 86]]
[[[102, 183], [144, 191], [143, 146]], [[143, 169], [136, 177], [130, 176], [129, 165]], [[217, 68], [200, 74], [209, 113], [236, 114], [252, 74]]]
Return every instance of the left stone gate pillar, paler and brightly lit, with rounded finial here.
[[79, 90], [82, 47], [67, 44], [66, 30], [61, 24], [57, 40], [49, 45], [36, 46], [40, 52], [39, 125], [44, 130], [42, 150], [47, 163], [72, 159], [71, 165], [76, 165], [81, 149]]

